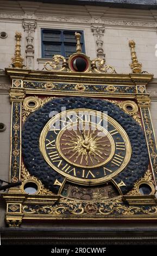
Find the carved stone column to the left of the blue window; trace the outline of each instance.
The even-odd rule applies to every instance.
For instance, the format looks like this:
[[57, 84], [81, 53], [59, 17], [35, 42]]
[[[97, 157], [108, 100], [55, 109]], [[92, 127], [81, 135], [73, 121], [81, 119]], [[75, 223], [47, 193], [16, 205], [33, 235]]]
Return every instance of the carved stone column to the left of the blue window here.
[[22, 26], [26, 32], [26, 66], [29, 69], [34, 68], [34, 32], [36, 25], [36, 22], [22, 22]]

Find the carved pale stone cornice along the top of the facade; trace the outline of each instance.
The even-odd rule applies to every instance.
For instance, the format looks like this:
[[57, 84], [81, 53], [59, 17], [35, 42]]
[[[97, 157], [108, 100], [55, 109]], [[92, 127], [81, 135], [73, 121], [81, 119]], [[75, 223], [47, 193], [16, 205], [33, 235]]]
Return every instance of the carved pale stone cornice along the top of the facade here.
[[[1, 3], [1, 20], [29, 20], [37, 22], [66, 22], [99, 24], [105, 26], [120, 27], [157, 27], [157, 10], [134, 10], [117, 9], [99, 6], [47, 4], [41, 2], [17, 2], [9, 1], [10, 4]], [[20, 4], [19, 4], [20, 3]]]

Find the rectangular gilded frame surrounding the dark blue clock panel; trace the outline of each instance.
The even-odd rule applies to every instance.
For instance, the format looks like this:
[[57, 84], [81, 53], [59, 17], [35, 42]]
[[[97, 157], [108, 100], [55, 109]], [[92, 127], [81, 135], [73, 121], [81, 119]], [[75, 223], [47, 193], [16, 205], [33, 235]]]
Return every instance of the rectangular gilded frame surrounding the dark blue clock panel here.
[[[86, 97], [101, 97], [101, 99], [115, 101], [136, 101], [141, 114], [141, 123], [145, 131], [150, 160], [149, 178], [143, 182], [151, 182], [152, 193], [142, 196], [139, 193], [120, 194], [117, 198], [103, 200], [103, 202], [80, 202], [64, 199], [46, 190], [40, 181], [36, 181], [39, 192], [35, 195], [24, 193], [22, 186], [10, 188], [2, 197], [7, 203], [5, 220], [9, 227], [19, 227], [25, 220], [157, 220], [157, 199], [155, 186], [157, 181], [157, 150], [152, 120], [150, 118], [150, 98], [146, 86], [153, 75], [150, 74], [79, 74], [76, 72], [33, 71], [27, 69], [6, 69], [12, 85], [10, 87], [11, 102], [11, 154], [10, 181], [22, 179], [36, 180], [26, 175], [21, 155], [21, 127], [22, 102], [27, 97], [45, 95], [46, 99], [56, 96], [80, 95]], [[61, 86], [60, 86], [61, 84]], [[73, 86], [70, 86], [73, 85]], [[79, 86], [78, 86], [79, 85]], [[90, 87], [91, 86], [91, 87]], [[42, 106], [43, 102], [37, 100]], [[118, 105], [118, 102], [117, 102]], [[133, 103], [134, 105], [134, 103]], [[124, 106], [123, 106], [124, 107]], [[134, 110], [136, 110], [134, 108]], [[26, 118], [33, 109], [25, 106]], [[138, 113], [130, 113], [134, 118]], [[138, 120], [138, 119], [137, 119]], [[57, 182], [57, 181], [56, 181]], [[60, 184], [58, 184], [60, 186]], [[119, 191], [123, 182], [115, 184]], [[137, 186], [137, 185], [135, 185]], [[42, 191], [42, 192], [41, 192]], [[124, 204], [127, 202], [127, 205]], [[59, 203], [56, 203], [59, 202]]]

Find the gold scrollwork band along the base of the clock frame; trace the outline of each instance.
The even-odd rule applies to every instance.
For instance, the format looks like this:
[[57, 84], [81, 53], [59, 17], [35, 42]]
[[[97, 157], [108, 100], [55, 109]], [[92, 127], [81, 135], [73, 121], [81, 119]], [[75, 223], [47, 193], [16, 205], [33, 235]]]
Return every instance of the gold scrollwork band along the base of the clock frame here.
[[[90, 202], [76, 202], [76, 200], [60, 199], [55, 205], [23, 205], [22, 206], [23, 214], [39, 214], [47, 215], [47, 218], [50, 215], [53, 218], [57, 216], [81, 216], [87, 217], [89, 215], [95, 217], [108, 217], [108, 216], [123, 216], [123, 217], [132, 217], [137, 215], [152, 215], [156, 216], [157, 206], [129, 206], [122, 202], [122, 197], [118, 197], [114, 200], [105, 200], [103, 202], [92, 204]], [[72, 217], [73, 216], [73, 217]]]

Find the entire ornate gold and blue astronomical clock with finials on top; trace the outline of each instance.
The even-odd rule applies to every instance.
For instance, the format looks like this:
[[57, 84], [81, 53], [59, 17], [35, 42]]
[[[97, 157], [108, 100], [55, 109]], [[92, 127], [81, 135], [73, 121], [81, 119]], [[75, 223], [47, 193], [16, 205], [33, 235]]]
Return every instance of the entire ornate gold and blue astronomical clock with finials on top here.
[[[6, 221], [143, 220], [157, 217], [156, 144], [147, 83], [131, 48], [131, 74], [77, 50], [44, 70], [18, 56], [10, 101], [10, 181]], [[16, 36], [17, 40], [20, 40]], [[21, 59], [20, 59], [21, 58]]]

